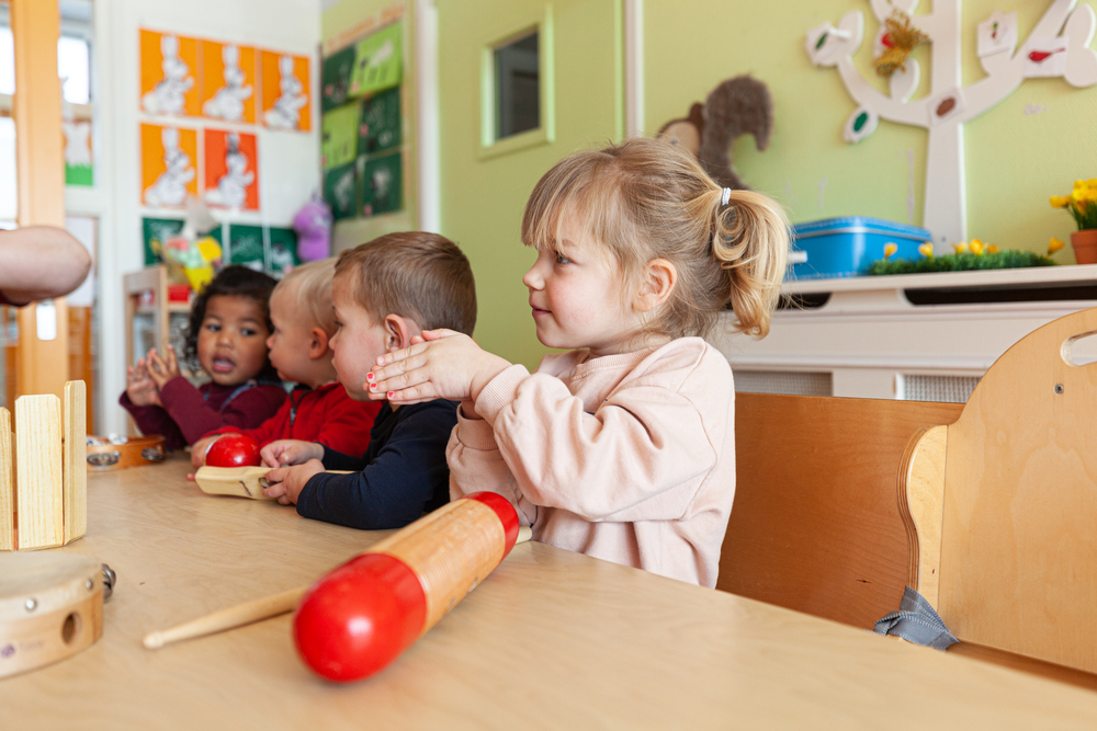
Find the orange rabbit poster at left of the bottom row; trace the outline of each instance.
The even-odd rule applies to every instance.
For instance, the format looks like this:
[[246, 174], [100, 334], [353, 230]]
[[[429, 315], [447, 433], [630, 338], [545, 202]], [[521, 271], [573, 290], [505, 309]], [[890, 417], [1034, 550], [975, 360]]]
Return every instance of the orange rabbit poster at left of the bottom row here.
[[154, 208], [181, 208], [199, 194], [197, 133], [193, 129], [140, 126], [142, 199]]

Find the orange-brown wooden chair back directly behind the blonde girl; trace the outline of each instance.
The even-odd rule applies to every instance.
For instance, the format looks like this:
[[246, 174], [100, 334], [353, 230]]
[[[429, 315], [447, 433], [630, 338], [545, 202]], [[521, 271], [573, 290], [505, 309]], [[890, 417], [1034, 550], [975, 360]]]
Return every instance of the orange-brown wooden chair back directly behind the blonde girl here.
[[735, 398], [735, 504], [716, 589], [871, 628], [908, 579], [895, 500], [905, 450], [962, 404]]

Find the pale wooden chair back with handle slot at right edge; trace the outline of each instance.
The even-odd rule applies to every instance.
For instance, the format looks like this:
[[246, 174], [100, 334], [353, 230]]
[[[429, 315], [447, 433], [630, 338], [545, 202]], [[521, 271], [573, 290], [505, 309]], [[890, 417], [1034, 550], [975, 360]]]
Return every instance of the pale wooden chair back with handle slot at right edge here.
[[1097, 309], [1009, 349], [912, 443], [900, 501], [911, 585], [957, 638], [1094, 673], [1097, 364], [1071, 356], [1090, 334]]

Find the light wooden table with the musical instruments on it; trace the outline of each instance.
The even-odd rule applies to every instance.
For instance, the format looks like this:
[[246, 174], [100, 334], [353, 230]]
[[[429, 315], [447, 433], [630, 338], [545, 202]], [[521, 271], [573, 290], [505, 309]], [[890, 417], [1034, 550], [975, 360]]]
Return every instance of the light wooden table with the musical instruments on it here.
[[385, 535], [204, 495], [186, 469], [90, 477], [88, 536], [55, 550], [117, 571], [103, 638], [0, 681], [0, 728], [1097, 728], [1094, 693], [541, 544], [355, 685], [304, 667], [289, 616], [146, 651]]

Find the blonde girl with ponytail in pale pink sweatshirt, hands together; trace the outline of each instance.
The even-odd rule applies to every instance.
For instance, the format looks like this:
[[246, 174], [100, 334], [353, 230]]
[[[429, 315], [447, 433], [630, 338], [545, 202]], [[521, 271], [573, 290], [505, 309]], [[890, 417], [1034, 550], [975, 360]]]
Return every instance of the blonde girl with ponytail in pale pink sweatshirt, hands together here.
[[633, 139], [557, 163], [522, 220], [535, 373], [450, 331], [366, 376], [394, 406], [461, 401], [450, 492], [509, 499], [535, 540], [714, 586], [735, 495], [732, 372], [702, 335], [769, 331], [788, 222], [690, 155]]

